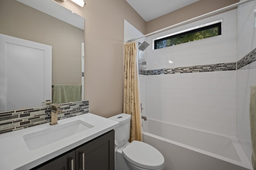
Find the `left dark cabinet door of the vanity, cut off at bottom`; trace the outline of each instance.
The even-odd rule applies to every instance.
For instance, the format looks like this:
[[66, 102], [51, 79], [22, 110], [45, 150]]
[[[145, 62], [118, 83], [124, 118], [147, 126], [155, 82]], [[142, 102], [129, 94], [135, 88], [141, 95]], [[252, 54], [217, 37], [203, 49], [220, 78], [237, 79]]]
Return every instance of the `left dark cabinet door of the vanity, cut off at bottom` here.
[[75, 170], [76, 169], [76, 151], [73, 150], [56, 160], [38, 168], [38, 170]]

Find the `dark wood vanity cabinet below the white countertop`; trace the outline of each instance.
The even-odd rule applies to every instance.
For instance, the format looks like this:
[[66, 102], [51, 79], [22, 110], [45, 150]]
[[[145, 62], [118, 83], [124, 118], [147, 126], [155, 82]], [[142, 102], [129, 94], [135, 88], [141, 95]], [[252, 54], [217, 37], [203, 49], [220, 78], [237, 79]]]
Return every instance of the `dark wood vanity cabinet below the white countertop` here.
[[114, 170], [114, 154], [114, 130], [111, 130], [32, 170]]

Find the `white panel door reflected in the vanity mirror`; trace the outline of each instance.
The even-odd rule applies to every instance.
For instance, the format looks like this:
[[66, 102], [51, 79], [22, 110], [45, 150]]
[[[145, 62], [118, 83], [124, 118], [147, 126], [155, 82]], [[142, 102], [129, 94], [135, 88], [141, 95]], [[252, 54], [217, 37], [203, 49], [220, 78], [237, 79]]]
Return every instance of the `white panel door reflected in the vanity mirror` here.
[[52, 46], [0, 34], [0, 111], [52, 99]]

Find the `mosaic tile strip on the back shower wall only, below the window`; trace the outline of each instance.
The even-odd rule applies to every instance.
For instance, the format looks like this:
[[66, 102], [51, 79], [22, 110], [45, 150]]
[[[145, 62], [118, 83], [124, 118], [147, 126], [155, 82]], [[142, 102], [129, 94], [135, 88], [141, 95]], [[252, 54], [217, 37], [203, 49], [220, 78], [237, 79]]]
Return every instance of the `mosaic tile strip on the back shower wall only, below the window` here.
[[236, 70], [236, 62], [147, 70], [146, 75], [197, 73], [197, 72], [229, 71], [229, 70]]

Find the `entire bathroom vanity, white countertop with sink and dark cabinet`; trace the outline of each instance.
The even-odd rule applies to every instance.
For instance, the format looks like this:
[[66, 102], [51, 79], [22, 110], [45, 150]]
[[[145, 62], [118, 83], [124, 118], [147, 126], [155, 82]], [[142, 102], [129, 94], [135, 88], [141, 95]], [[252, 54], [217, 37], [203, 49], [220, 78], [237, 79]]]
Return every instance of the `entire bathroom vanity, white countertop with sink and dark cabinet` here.
[[3, 170], [114, 170], [114, 128], [91, 113], [0, 134]]

